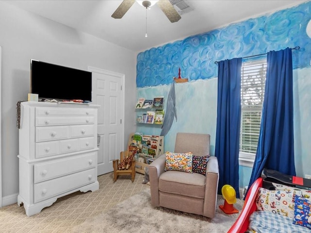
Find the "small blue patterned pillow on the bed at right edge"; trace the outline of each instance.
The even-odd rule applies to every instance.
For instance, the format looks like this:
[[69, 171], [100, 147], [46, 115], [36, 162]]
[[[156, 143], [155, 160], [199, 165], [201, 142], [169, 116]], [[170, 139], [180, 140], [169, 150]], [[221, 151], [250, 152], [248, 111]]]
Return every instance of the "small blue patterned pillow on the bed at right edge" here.
[[294, 224], [311, 229], [311, 201], [303, 197], [295, 197]]

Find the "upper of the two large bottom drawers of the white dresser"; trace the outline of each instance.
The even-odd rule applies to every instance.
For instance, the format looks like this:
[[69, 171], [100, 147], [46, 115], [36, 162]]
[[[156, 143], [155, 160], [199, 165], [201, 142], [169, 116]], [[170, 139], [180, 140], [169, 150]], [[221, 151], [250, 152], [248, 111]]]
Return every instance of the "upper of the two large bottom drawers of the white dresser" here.
[[64, 159], [35, 164], [34, 183], [39, 183], [97, 166], [96, 161], [96, 152], [91, 152], [80, 156], [67, 157]]

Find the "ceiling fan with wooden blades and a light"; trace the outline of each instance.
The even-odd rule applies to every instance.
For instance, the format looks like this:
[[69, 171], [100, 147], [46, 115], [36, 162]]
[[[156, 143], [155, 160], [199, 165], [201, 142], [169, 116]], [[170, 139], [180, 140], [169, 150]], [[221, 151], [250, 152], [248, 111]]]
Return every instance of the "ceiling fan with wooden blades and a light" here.
[[[181, 19], [178, 12], [173, 7], [169, 0], [158, 0], [158, 1], [137, 1], [140, 5], [146, 9], [156, 4], [160, 7], [163, 13], [168, 17], [168, 19], [174, 23]], [[122, 18], [125, 13], [130, 9], [130, 7], [135, 3], [135, 0], [123, 0], [117, 10], [112, 14], [113, 18]]]

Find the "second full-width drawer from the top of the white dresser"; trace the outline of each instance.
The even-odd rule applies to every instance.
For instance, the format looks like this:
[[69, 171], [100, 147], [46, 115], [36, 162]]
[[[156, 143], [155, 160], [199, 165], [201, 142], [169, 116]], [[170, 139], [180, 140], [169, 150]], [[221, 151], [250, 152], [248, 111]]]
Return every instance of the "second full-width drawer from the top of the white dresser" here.
[[94, 124], [94, 116], [38, 116], [35, 126]]

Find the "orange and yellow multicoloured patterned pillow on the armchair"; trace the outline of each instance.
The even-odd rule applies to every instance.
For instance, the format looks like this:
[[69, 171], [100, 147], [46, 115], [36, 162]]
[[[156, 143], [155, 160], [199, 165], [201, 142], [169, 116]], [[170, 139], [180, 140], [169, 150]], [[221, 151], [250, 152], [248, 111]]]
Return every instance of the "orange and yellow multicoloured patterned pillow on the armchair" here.
[[165, 153], [165, 171], [184, 171], [192, 173], [192, 152], [188, 153]]

